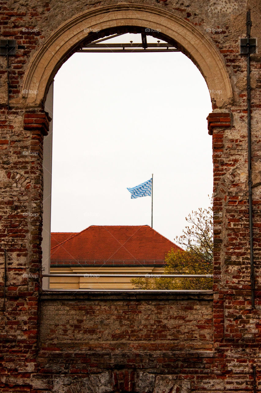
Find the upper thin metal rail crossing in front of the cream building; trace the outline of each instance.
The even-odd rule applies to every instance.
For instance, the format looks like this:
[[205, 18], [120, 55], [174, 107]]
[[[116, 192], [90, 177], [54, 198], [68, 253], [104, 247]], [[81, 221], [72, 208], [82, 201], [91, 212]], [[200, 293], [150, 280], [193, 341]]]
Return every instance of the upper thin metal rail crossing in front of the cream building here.
[[71, 274], [71, 273], [49, 273], [49, 274], [43, 274], [43, 277], [146, 277], [146, 278], [167, 278], [167, 277], [180, 277], [180, 278], [192, 278], [192, 277], [208, 277], [211, 278], [213, 277], [213, 274], [99, 274], [99, 273], [91, 273], [91, 272], [86, 272], [86, 273], [79, 273], [79, 274]]

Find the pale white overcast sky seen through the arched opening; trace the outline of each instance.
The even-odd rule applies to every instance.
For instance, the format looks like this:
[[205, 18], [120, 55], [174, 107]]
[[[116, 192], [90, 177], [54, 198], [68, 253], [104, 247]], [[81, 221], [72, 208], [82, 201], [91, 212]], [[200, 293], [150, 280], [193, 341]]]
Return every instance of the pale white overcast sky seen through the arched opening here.
[[[141, 42], [117, 42], [130, 40]], [[150, 225], [151, 198], [131, 199], [126, 187], [153, 173], [153, 228], [174, 241], [186, 215], [209, 206], [211, 111], [182, 53], [72, 55], [54, 79], [52, 231]]]

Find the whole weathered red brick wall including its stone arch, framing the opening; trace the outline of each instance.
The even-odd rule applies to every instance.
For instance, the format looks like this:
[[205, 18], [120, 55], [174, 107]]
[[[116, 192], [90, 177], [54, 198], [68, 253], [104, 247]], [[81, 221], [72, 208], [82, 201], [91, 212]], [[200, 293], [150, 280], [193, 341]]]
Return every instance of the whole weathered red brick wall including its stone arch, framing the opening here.
[[[150, 0], [134, 7], [114, 0], [1, 2], [1, 38], [16, 40], [16, 55], [9, 57], [9, 110], [6, 57], [0, 57], [1, 391], [254, 391], [253, 365], [257, 384], [261, 368], [261, 72], [257, 51], [251, 55], [256, 275], [252, 309], [246, 57], [239, 54], [239, 39], [246, 37], [250, 9], [251, 35], [261, 42], [259, 3]], [[208, 116], [214, 165], [213, 310], [211, 299], [199, 295], [106, 300], [88, 294], [74, 299], [43, 294], [40, 307], [42, 142], [50, 121], [44, 99], [55, 72], [83, 39], [83, 27], [99, 23], [106, 29], [161, 25], [205, 76], [214, 110]]]

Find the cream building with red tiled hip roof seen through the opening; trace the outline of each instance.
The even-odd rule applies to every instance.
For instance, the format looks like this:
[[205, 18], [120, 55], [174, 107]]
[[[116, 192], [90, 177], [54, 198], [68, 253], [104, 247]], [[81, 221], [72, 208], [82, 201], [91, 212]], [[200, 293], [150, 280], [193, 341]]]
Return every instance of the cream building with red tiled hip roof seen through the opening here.
[[164, 272], [170, 250], [183, 251], [148, 225], [92, 225], [80, 233], [51, 233], [50, 272], [68, 277], [51, 277], [50, 288], [133, 289], [131, 277], [103, 275], [146, 274], [152, 281]]

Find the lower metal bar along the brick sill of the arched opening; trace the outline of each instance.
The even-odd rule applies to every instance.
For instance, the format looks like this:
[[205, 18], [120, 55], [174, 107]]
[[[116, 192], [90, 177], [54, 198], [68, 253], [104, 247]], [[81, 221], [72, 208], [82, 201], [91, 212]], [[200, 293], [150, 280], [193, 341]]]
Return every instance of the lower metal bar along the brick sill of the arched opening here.
[[211, 289], [45, 289], [44, 292], [188, 292], [211, 294]]

